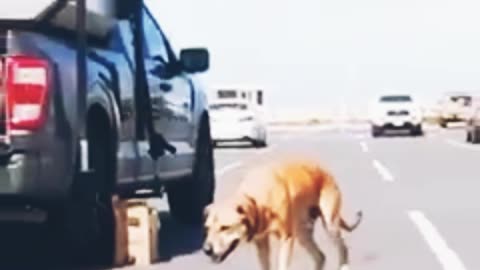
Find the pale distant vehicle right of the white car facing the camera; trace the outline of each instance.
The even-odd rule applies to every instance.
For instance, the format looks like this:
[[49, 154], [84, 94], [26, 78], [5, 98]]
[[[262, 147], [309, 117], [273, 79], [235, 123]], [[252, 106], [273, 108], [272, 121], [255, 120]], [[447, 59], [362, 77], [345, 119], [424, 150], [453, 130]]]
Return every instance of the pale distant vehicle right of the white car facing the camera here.
[[440, 99], [440, 126], [446, 128], [451, 122], [464, 122], [472, 102], [472, 96], [465, 92], [445, 93]]

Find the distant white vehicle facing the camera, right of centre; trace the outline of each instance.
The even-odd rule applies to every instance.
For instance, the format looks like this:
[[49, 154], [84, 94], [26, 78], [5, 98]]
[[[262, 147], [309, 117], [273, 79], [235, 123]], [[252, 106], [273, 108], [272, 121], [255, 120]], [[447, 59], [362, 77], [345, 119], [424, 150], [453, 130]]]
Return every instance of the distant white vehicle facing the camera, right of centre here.
[[423, 135], [422, 112], [410, 95], [381, 95], [370, 107], [373, 137], [385, 130], [410, 130], [411, 135]]

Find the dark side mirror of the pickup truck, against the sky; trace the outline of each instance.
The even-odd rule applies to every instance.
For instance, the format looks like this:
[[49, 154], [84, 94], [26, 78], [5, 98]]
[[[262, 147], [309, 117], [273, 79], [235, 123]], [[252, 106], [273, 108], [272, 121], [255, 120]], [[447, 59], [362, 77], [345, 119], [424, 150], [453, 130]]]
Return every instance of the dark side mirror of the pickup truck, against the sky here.
[[210, 55], [207, 49], [190, 48], [180, 51], [180, 65], [188, 73], [205, 72], [210, 65]]

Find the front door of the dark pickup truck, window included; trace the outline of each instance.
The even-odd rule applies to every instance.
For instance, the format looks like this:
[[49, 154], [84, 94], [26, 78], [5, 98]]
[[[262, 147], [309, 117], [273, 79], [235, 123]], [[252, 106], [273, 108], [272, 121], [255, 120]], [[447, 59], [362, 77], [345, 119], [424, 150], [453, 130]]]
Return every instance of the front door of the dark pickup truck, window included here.
[[156, 164], [157, 174], [189, 173], [193, 158], [193, 91], [157, 22], [145, 8], [145, 69], [152, 101], [152, 116], [158, 133], [177, 148], [175, 158], [166, 156]]

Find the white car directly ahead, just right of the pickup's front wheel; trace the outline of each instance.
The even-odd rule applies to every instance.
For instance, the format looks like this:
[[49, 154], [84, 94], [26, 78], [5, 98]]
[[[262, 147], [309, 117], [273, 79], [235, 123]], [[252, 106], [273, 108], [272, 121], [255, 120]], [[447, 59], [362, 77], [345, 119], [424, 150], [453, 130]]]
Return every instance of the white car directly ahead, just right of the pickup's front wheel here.
[[211, 136], [219, 142], [246, 141], [255, 147], [267, 146], [267, 128], [262, 113], [243, 100], [210, 102]]

